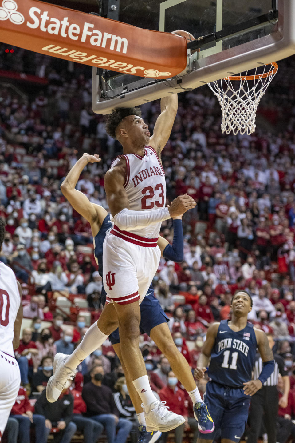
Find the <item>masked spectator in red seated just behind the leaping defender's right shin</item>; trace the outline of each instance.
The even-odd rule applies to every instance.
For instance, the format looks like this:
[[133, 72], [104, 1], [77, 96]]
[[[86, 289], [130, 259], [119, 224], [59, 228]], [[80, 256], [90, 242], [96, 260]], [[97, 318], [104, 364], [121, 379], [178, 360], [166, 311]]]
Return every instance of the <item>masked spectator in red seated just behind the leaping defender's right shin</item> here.
[[[189, 428], [188, 425], [188, 410], [185, 406], [185, 395], [182, 389], [178, 388], [177, 378], [173, 371], [168, 373], [168, 385], [161, 389], [159, 396], [161, 401], [166, 402], [166, 406], [169, 407], [170, 411], [180, 414], [184, 417], [185, 423], [174, 429], [175, 432], [175, 443], [182, 443], [184, 436], [184, 430]], [[162, 433], [162, 441], [166, 443], [169, 432]]]

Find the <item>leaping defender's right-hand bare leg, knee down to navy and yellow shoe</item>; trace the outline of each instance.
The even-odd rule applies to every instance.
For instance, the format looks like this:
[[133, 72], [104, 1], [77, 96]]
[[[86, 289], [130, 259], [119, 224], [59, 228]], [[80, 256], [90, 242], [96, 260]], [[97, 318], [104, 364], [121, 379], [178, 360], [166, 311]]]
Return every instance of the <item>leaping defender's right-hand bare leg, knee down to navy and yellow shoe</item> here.
[[204, 405], [202, 397], [200, 396], [199, 389], [192, 376], [191, 368], [184, 356], [176, 348], [166, 321], [153, 327], [150, 331], [150, 338], [156, 343], [165, 357], [168, 358], [172, 371], [191, 397], [194, 405], [195, 419], [199, 422], [199, 431], [214, 431], [213, 420], [210, 414], [208, 414], [207, 407]]

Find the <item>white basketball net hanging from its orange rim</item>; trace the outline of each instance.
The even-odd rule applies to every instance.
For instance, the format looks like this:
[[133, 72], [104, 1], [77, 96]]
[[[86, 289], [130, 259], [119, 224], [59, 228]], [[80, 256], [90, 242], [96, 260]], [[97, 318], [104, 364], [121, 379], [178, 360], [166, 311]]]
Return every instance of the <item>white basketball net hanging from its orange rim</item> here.
[[[263, 72], [259, 73], [257, 71]], [[255, 118], [258, 103], [264, 95], [269, 83], [272, 81], [278, 66], [276, 63], [270, 63], [257, 67], [254, 74], [222, 78], [208, 86], [215, 93], [222, 109], [222, 132], [234, 135], [252, 134], [255, 131]]]

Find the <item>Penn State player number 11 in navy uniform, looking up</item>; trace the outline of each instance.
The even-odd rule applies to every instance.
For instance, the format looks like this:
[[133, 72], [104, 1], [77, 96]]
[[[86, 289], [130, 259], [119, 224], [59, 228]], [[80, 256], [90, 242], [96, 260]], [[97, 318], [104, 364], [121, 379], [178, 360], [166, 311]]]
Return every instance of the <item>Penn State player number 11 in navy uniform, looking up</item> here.
[[[194, 377], [201, 380], [211, 358], [204, 396], [215, 431], [199, 435], [197, 443], [213, 442], [221, 431], [222, 443], [238, 443], [245, 430], [250, 397], [261, 389], [274, 370], [272, 350], [264, 331], [247, 322], [252, 299], [245, 291], [237, 291], [232, 298], [232, 319], [212, 323], [199, 356]], [[263, 361], [257, 380], [251, 380], [256, 348]]]

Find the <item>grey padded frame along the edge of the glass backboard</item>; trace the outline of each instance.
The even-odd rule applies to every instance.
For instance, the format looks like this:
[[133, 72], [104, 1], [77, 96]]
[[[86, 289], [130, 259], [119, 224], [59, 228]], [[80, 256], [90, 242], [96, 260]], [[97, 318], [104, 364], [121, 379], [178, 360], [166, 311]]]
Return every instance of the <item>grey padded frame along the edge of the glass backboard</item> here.
[[[171, 93], [192, 90], [228, 75], [234, 75], [291, 56], [295, 53], [295, 0], [277, 0], [277, 9], [278, 19], [274, 25], [276, 32], [271, 35], [225, 51], [217, 53], [212, 51], [213, 53], [207, 57], [198, 59], [195, 54], [192, 55], [190, 47], [195, 42], [191, 42], [188, 45], [188, 65], [183, 73], [161, 81], [149, 79], [148, 85], [123, 93], [119, 97], [102, 100], [97, 68], [93, 68], [93, 111], [99, 114], [108, 114], [117, 107], [128, 108], [142, 105], [166, 97]], [[218, 31], [217, 28], [217, 35]]]

